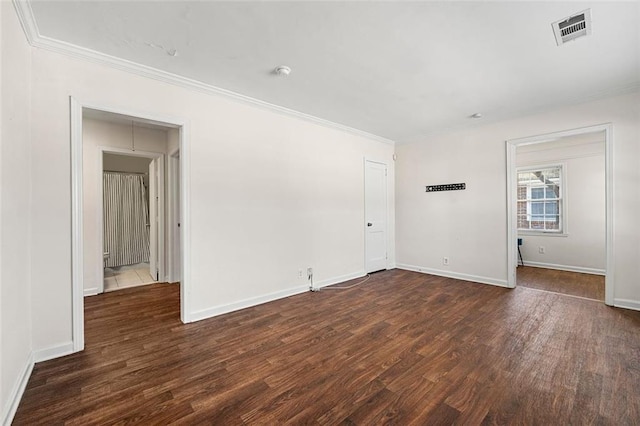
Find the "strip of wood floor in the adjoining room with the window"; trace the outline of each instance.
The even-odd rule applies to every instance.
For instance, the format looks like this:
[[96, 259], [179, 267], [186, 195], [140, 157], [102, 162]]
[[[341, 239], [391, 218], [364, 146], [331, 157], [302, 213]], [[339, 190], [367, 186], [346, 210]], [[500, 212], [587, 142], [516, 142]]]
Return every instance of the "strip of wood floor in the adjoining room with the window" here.
[[604, 276], [518, 266], [517, 285], [604, 302]]

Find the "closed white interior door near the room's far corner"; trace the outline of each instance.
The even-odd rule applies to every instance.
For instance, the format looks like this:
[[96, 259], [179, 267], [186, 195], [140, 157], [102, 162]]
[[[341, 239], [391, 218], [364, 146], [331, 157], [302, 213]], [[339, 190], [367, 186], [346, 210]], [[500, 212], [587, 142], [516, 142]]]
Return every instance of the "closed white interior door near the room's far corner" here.
[[365, 161], [365, 269], [387, 269], [387, 165]]

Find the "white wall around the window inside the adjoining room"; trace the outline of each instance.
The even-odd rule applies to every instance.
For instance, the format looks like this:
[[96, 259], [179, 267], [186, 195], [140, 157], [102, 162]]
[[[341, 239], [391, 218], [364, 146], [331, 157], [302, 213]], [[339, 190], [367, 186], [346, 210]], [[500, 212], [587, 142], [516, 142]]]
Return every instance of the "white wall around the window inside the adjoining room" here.
[[[524, 263], [576, 272], [599, 273], [606, 268], [604, 132], [519, 146], [516, 164], [564, 166], [567, 217], [561, 235], [520, 232]], [[544, 254], [538, 247], [544, 247]]]

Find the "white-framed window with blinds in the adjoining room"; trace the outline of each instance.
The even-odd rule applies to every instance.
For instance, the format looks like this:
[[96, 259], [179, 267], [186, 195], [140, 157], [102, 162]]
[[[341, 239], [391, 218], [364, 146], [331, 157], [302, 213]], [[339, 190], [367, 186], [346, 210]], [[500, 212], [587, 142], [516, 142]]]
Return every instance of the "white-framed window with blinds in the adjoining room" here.
[[518, 230], [562, 232], [562, 166], [518, 169]]

